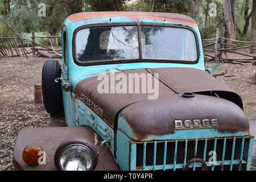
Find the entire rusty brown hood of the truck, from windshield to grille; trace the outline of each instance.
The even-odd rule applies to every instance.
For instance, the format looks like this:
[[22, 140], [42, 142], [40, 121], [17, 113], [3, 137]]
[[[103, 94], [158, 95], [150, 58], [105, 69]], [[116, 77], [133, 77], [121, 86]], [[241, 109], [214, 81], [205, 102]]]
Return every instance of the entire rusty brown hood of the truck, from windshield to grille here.
[[[175, 119], [216, 118], [219, 122], [217, 130], [221, 133], [249, 132], [249, 123], [242, 111], [241, 97], [203, 70], [156, 68], [118, 73], [127, 77], [129, 73], [152, 75], [159, 80], [159, 97], [148, 100], [148, 93], [141, 92], [99, 93], [97, 88], [101, 80], [97, 76], [80, 81], [75, 94], [113, 127], [118, 127], [118, 116], [122, 118], [122, 122], [127, 122], [134, 133], [133, 139], [142, 140], [151, 134], [175, 133]], [[109, 85], [113, 86], [110, 80]], [[141, 82], [141, 86], [143, 84]], [[183, 98], [183, 92], [195, 93], [195, 97]]]

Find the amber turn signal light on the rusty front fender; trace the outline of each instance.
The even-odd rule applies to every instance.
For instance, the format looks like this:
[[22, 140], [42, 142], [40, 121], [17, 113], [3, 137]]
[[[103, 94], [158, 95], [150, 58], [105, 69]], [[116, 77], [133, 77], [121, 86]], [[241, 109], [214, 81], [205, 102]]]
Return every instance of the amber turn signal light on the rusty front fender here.
[[24, 162], [29, 166], [38, 165], [38, 159], [40, 158], [40, 155], [38, 155], [39, 151], [41, 151], [39, 147], [25, 147], [22, 155]]

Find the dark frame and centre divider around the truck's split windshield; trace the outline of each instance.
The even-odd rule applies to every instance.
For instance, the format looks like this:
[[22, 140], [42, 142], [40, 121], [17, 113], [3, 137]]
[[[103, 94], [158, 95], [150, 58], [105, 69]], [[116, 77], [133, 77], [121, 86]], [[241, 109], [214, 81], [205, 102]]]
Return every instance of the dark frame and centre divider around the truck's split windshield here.
[[[95, 27], [116, 27], [116, 26], [137, 26], [137, 34], [138, 34], [138, 48], [139, 48], [139, 58], [138, 59], [122, 59], [122, 60], [102, 60], [102, 61], [88, 61], [87, 63], [81, 63], [77, 59], [76, 55], [76, 35], [82, 29], [85, 28], [95, 28]], [[167, 60], [167, 59], [143, 59], [142, 57], [142, 44], [141, 44], [141, 26], [156, 26], [156, 27], [173, 27], [173, 28], [185, 28], [193, 32], [196, 40], [196, 52], [197, 57], [195, 61], [189, 60]], [[198, 36], [193, 30], [193, 28], [184, 25], [174, 25], [174, 24], [156, 24], [156, 23], [104, 23], [104, 24], [90, 24], [76, 28], [73, 32], [73, 39], [72, 39], [72, 53], [73, 53], [73, 60], [77, 65], [86, 67], [91, 65], [105, 65], [105, 64], [124, 64], [124, 63], [177, 63], [177, 64], [197, 64], [199, 62], [200, 57], [200, 49], [199, 49], [199, 39]]]

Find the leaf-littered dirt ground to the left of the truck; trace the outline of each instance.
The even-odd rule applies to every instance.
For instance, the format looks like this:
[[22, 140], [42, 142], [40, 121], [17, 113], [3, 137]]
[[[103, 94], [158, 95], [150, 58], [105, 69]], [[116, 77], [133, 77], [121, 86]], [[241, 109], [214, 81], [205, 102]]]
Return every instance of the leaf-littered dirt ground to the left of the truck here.
[[14, 169], [11, 160], [20, 130], [47, 126], [49, 114], [43, 104], [34, 104], [34, 84], [41, 82], [45, 60], [0, 59], [0, 170]]

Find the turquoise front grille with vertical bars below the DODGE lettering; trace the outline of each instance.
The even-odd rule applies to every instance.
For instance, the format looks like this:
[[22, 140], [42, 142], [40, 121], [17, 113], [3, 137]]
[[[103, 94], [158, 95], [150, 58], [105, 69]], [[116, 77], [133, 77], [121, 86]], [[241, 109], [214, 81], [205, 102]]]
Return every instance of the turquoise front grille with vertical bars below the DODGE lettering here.
[[[253, 141], [253, 137], [247, 136], [136, 142], [131, 144], [131, 158], [136, 161], [131, 162], [130, 167], [143, 171], [183, 170], [189, 160], [200, 158], [207, 164], [208, 171], [249, 170]], [[193, 162], [188, 169], [202, 170], [203, 165]]]

